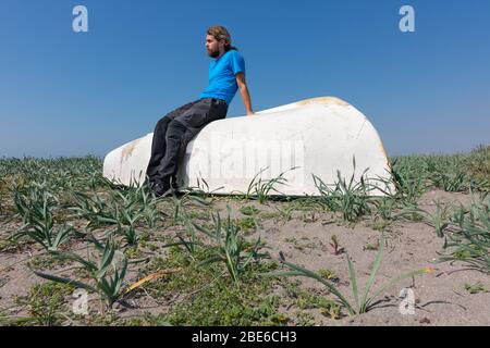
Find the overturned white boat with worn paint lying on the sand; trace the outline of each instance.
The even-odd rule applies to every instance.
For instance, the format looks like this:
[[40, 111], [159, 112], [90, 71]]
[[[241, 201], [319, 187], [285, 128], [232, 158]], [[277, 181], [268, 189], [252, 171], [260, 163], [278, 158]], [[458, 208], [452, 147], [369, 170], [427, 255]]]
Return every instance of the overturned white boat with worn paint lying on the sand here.
[[[103, 176], [140, 185], [151, 152], [152, 133], [106, 156]], [[353, 165], [355, 159], [355, 165]], [[180, 160], [179, 186], [216, 194], [254, 194], [254, 186], [281, 177], [273, 186], [287, 196], [318, 196], [320, 178], [331, 185], [360, 177], [393, 192], [391, 169], [372, 124], [347, 102], [321, 97], [208, 124]], [[253, 185], [250, 185], [253, 184]], [[254, 185], [257, 184], [257, 185]], [[271, 189], [268, 195], [279, 195]]]

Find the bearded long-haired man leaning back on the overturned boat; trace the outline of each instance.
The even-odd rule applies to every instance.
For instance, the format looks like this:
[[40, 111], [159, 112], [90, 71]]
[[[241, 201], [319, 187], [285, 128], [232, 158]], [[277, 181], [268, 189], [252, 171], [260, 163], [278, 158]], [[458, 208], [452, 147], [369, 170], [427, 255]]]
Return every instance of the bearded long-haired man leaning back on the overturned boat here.
[[209, 86], [199, 99], [186, 103], [158, 121], [154, 132], [151, 158], [146, 171], [156, 196], [176, 190], [177, 160], [200, 129], [226, 116], [228, 105], [240, 89], [247, 115], [253, 115], [245, 82], [245, 61], [231, 46], [230, 33], [223, 26], [211, 26], [206, 35], [206, 50], [213, 58], [209, 65]]

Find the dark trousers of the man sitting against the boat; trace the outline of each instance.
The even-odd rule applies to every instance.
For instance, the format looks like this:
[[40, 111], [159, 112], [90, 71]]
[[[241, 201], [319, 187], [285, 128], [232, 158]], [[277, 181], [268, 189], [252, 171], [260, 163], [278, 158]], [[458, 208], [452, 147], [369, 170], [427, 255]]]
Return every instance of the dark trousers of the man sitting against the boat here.
[[186, 103], [158, 121], [151, 144], [151, 157], [146, 170], [150, 183], [170, 187], [175, 183], [179, 160], [188, 142], [212, 121], [226, 116], [228, 104], [222, 99], [204, 98]]

